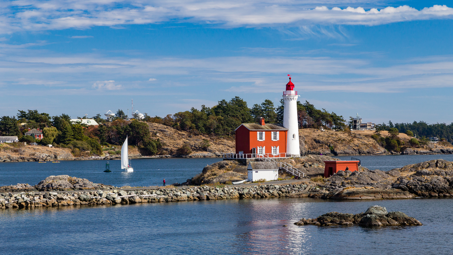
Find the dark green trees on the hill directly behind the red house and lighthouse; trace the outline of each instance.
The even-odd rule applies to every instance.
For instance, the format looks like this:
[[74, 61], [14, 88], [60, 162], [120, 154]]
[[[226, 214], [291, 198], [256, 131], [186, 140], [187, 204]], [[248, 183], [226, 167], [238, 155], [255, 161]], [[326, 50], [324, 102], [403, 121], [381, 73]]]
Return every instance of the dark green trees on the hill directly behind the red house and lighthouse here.
[[[258, 123], [260, 118], [265, 123], [283, 123], [284, 101], [280, 100], [278, 107], [270, 99], [249, 108], [247, 102], [240, 97], [218, 101], [212, 108], [202, 105], [200, 110], [191, 108], [190, 111], [168, 114], [165, 118], [150, 117], [145, 113], [144, 121], [161, 123], [179, 130], [197, 134], [213, 134], [230, 136], [241, 123]], [[120, 110], [119, 110], [120, 111]], [[118, 118], [118, 112], [115, 118]], [[326, 109], [316, 109], [313, 104], [297, 101], [297, 115], [300, 128], [319, 128], [344, 130], [345, 120], [336, 113]]]

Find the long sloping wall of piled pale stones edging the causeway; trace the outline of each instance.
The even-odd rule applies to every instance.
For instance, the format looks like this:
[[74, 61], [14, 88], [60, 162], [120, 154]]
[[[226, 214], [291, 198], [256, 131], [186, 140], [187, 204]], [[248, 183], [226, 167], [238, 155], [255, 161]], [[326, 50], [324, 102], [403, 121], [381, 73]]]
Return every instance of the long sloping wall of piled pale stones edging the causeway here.
[[135, 204], [215, 199], [244, 199], [280, 196], [307, 196], [308, 184], [199, 187], [150, 187], [137, 190], [97, 190], [66, 192], [0, 193], [0, 206], [5, 208], [35, 208], [102, 204]]

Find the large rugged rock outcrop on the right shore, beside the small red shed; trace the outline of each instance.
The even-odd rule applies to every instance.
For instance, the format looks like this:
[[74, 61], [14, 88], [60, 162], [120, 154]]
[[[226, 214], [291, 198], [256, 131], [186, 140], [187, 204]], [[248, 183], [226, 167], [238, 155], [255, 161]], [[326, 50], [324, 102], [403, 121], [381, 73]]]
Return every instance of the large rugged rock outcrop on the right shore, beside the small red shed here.
[[318, 186], [321, 194], [317, 197], [330, 199], [453, 196], [453, 162], [431, 160], [387, 172], [378, 169], [339, 171]]

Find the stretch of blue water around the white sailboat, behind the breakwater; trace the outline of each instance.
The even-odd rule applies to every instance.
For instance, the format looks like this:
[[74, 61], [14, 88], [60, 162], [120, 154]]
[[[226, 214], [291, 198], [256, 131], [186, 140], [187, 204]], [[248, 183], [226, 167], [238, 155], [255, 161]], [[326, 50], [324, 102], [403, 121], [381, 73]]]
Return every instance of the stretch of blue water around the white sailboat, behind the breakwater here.
[[94, 183], [120, 186], [155, 186], [182, 183], [202, 172], [203, 167], [222, 158], [156, 158], [131, 160], [134, 172], [121, 171], [119, 160], [110, 160], [109, 173], [105, 160], [61, 161], [60, 163], [0, 162], [0, 186], [28, 183], [36, 185], [51, 175], [67, 174]]

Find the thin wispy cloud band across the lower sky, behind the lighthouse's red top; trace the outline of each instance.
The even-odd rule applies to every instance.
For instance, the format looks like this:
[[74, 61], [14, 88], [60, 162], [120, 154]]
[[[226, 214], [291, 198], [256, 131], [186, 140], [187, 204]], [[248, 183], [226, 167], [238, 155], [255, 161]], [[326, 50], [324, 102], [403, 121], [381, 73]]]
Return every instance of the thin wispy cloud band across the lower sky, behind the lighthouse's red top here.
[[[280, 92], [282, 77], [289, 73], [301, 91], [399, 93], [416, 88], [453, 88], [453, 56], [449, 55], [376, 66], [371, 59], [351, 57], [147, 59], [135, 54], [115, 58], [101, 54], [39, 56], [32, 49], [12, 50], [17, 54], [0, 59], [0, 76], [5, 83], [1, 88], [17, 93], [26, 86], [46, 85], [51, 87], [46, 93], [57, 94], [86, 94], [95, 89], [144, 95], [169, 93], [168, 89], [175, 87], [199, 94], [203, 86], [211, 88], [213, 83], [215, 89], [229, 93], [267, 93]], [[98, 77], [111, 80], [96, 81]]]

